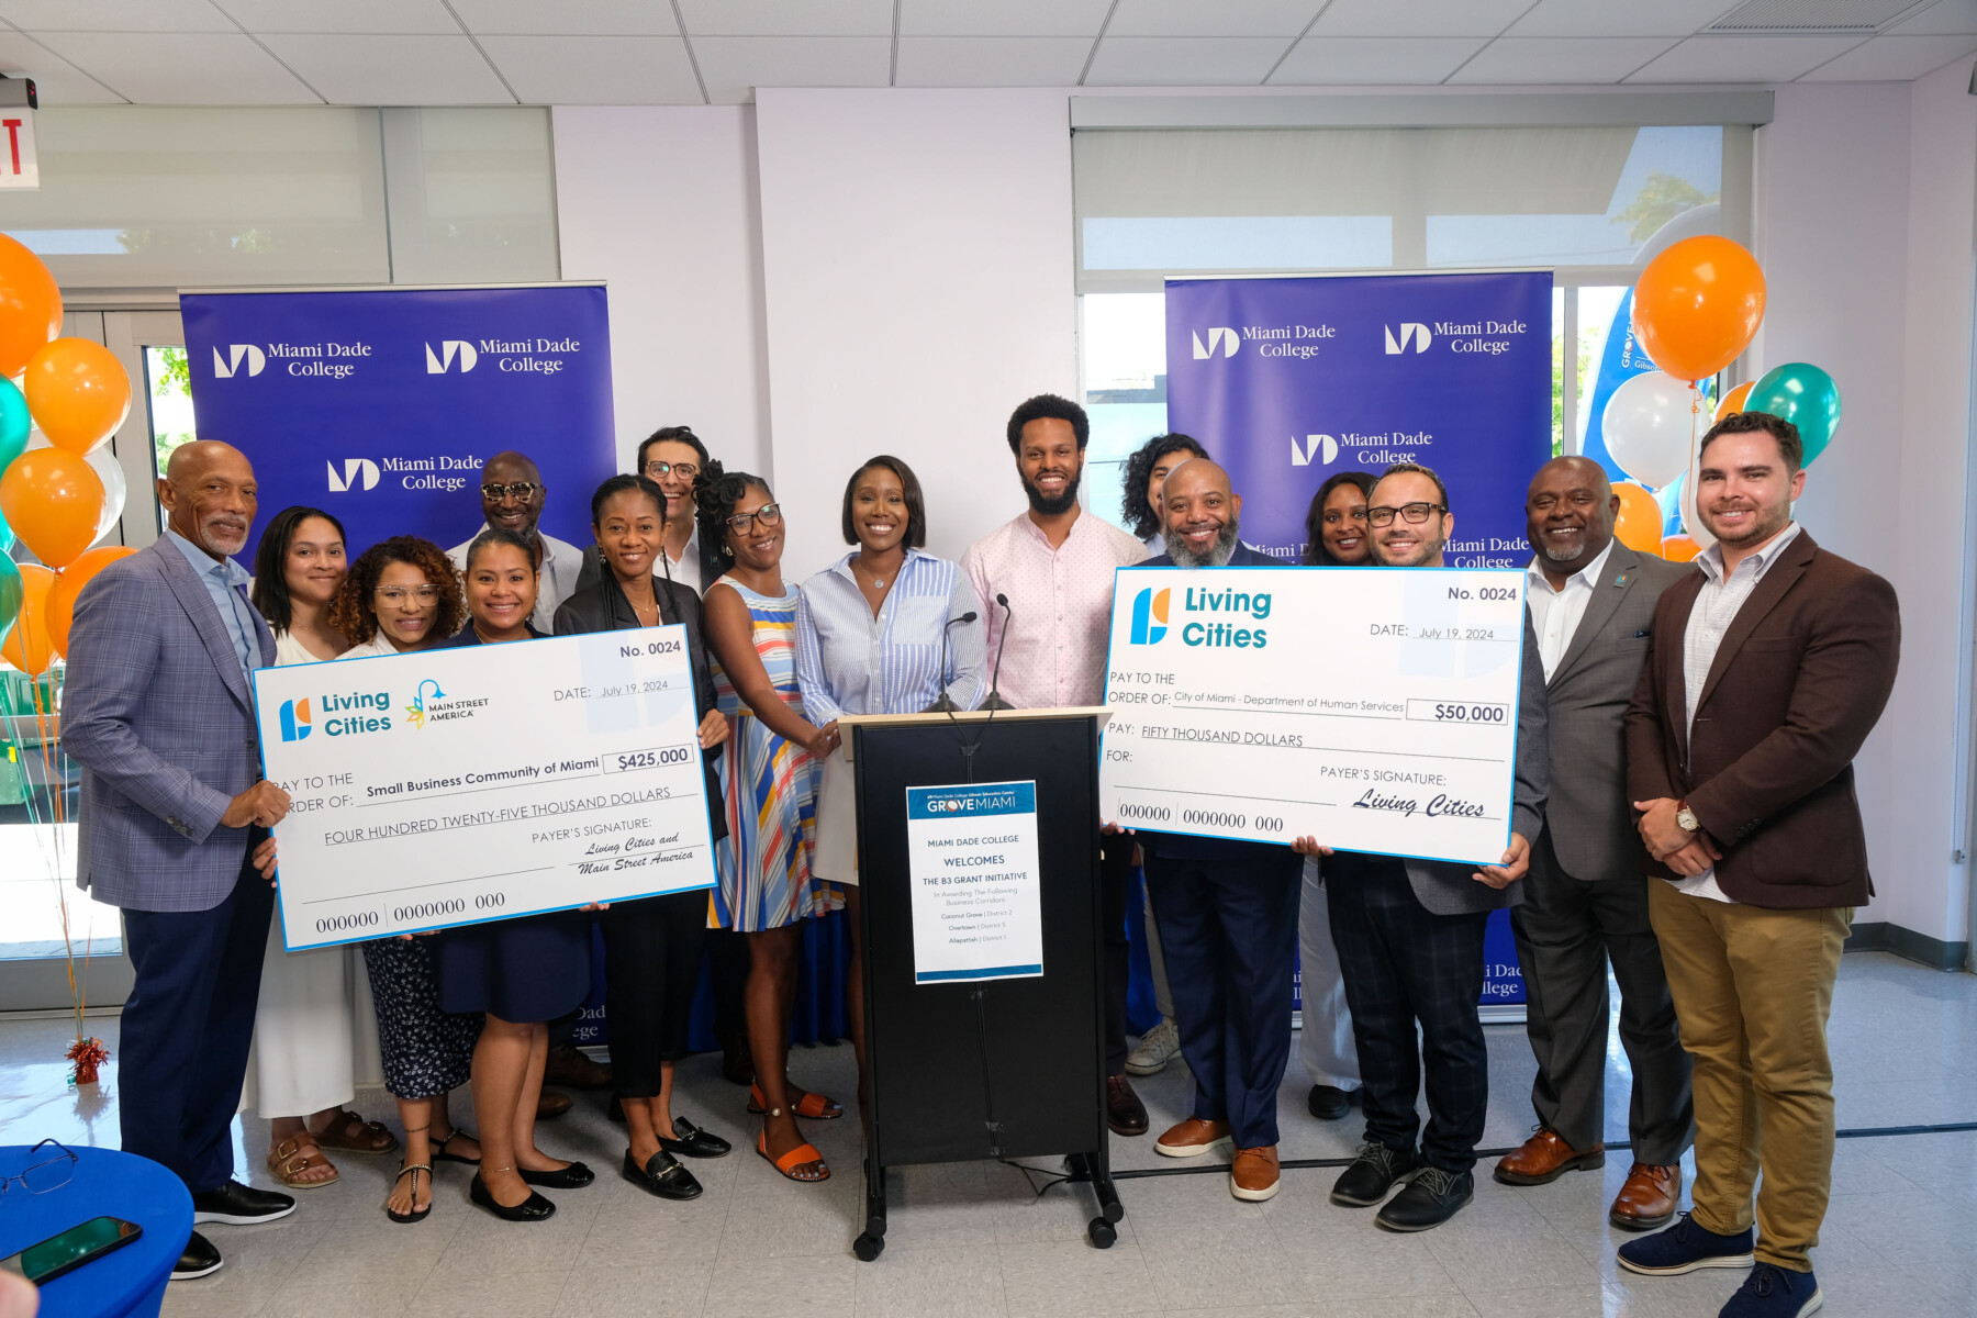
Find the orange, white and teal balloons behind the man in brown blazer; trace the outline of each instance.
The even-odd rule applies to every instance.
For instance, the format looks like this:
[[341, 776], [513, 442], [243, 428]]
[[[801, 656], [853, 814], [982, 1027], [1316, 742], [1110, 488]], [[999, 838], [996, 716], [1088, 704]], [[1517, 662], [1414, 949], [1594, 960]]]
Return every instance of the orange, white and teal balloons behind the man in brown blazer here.
[[[1633, 334], [1661, 370], [1621, 383], [1599, 419], [1607, 453], [1631, 478], [1613, 486], [1621, 500], [1613, 535], [1629, 549], [1688, 561], [1714, 543], [1694, 502], [1696, 445], [1708, 427], [1696, 381], [1736, 362], [1758, 336], [1763, 292], [1758, 259], [1726, 237], [1682, 239], [1641, 271]], [[1841, 425], [1841, 391], [1817, 366], [1791, 362], [1732, 389], [1710, 421], [1734, 411], [1767, 411], [1797, 425], [1811, 466]], [[1663, 537], [1663, 504], [1680, 510], [1686, 534]]]

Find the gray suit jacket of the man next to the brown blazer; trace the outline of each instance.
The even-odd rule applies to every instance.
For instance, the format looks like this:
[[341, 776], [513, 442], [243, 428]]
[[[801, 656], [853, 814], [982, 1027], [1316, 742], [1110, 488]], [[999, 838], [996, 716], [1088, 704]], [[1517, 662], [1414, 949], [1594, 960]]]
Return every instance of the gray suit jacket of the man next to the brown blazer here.
[[1544, 824], [1576, 879], [1641, 877], [1641, 836], [1627, 802], [1627, 701], [1641, 684], [1655, 601], [1696, 571], [1613, 541], [1572, 644], [1546, 684], [1552, 783]]

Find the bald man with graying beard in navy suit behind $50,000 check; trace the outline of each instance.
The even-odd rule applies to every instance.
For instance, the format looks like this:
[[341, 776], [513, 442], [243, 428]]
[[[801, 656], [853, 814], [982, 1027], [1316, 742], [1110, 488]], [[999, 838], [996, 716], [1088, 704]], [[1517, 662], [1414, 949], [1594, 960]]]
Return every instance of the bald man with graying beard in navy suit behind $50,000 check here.
[[[1230, 474], [1190, 458], [1160, 486], [1166, 553], [1153, 567], [1279, 567], [1249, 549]], [[1287, 846], [1141, 832], [1147, 887], [1174, 990], [1180, 1055], [1194, 1073], [1188, 1118], [1155, 1148], [1168, 1158], [1234, 1142], [1230, 1194], [1277, 1194], [1277, 1087], [1291, 1057], [1291, 958], [1305, 862]]]

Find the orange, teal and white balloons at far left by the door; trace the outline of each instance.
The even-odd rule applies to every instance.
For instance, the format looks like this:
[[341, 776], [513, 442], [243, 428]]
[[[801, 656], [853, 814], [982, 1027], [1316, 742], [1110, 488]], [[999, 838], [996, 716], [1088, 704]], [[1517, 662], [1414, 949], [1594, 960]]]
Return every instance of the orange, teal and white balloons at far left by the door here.
[[[61, 338], [55, 277], [0, 233], [0, 658], [22, 672], [67, 652], [75, 597], [132, 553], [89, 547], [123, 516], [123, 468], [105, 445], [129, 413], [123, 364]], [[16, 539], [45, 567], [16, 565]]]

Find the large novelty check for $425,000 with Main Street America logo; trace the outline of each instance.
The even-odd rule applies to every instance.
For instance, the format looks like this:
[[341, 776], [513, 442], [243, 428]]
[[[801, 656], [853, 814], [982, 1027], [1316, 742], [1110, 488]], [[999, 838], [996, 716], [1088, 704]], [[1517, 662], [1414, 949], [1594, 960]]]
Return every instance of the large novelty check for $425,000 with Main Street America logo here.
[[253, 674], [287, 947], [714, 885], [686, 632]]

